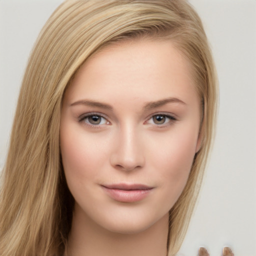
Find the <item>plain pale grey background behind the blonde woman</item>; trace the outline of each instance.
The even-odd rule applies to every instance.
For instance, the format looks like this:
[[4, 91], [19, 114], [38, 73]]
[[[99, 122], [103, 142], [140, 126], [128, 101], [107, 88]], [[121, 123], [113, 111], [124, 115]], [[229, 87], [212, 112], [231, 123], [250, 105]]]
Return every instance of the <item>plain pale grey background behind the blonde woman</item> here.
[[[0, 0], [0, 169], [26, 61], [39, 30], [62, 0]], [[231, 246], [256, 256], [256, 1], [190, 0], [205, 26], [220, 98], [211, 160], [178, 255], [210, 256]]]

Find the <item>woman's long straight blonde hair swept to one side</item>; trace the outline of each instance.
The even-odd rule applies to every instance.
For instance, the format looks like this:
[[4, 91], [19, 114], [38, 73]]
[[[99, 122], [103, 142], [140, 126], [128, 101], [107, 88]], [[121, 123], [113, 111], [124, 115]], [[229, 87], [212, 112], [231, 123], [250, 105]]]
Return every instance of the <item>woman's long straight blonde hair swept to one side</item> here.
[[106, 44], [168, 39], [193, 68], [202, 103], [202, 144], [169, 212], [169, 255], [184, 238], [210, 150], [216, 75], [200, 18], [186, 0], [66, 0], [44, 25], [30, 55], [14, 117], [0, 194], [0, 255], [62, 255], [73, 198], [59, 150], [62, 96], [77, 69]]

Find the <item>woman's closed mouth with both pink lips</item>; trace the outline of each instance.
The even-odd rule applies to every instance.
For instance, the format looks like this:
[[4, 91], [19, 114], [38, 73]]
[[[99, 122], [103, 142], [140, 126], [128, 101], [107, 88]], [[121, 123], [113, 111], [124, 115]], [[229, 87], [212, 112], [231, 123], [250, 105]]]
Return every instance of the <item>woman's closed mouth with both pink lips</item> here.
[[136, 202], [147, 197], [154, 187], [144, 184], [106, 184], [101, 185], [103, 190], [113, 200], [119, 202]]

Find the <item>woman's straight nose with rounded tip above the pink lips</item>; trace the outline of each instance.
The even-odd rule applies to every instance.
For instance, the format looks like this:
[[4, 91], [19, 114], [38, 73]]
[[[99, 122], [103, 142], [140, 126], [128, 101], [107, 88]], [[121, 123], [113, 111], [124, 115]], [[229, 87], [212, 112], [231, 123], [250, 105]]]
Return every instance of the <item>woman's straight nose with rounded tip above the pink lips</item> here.
[[120, 129], [115, 137], [110, 164], [114, 168], [125, 171], [132, 171], [144, 166], [145, 158], [141, 140], [142, 138], [135, 129], [131, 127]]

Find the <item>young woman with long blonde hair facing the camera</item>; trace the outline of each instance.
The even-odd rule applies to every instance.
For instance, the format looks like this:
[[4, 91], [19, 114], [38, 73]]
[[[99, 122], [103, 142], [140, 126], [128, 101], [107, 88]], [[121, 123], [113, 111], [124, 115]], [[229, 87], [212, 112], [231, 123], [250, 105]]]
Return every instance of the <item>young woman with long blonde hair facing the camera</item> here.
[[67, 0], [24, 75], [1, 255], [174, 255], [210, 149], [216, 77], [183, 0]]

